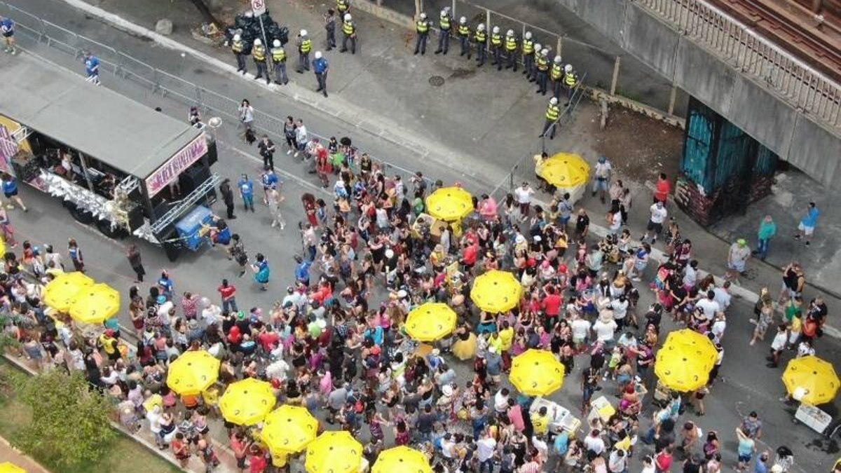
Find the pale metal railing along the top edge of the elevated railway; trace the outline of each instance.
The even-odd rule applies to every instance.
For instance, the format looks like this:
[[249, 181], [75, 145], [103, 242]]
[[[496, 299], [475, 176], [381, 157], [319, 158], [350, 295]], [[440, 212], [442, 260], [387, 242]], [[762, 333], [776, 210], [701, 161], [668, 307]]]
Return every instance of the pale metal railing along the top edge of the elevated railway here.
[[739, 71], [758, 78], [796, 109], [836, 130], [841, 128], [841, 86], [727, 13], [704, 0], [637, 3], [715, 50]]

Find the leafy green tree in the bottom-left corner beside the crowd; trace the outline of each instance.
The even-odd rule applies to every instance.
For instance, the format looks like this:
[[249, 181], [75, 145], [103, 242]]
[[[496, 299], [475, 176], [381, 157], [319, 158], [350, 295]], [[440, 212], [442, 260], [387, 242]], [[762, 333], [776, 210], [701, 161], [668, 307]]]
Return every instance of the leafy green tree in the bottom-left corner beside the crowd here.
[[75, 466], [98, 460], [114, 439], [111, 405], [90, 391], [81, 372], [50, 369], [21, 381], [19, 400], [32, 409], [16, 446], [55, 465]]

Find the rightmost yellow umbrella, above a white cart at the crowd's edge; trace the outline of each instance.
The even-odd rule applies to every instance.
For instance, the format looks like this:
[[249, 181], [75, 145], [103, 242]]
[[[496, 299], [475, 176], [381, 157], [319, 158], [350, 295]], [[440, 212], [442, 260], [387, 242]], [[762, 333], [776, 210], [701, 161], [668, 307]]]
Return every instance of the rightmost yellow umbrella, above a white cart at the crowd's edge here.
[[817, 356], [792, 359], [783, 373], [785, 390], [796, 400], [820, 406], [838, 394], [838, 375], [833, 365]]

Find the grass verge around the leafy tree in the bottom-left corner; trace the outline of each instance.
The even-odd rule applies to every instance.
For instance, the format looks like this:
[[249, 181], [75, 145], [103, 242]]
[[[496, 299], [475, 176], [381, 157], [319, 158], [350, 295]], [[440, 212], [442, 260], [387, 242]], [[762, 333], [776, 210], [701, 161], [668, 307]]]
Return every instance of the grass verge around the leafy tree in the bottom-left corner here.
[[[0, 378], [8, 380], [8, 375], [16, 368], [8, 361], [0, 358]], [[3, 385], [0, 391], [0, 436], [11, 444], [15, 443], [16, 435], [21, 426], [29, 423], [32, 412], [15, 399], [14, 393]], [[167, 461], [161, 460], [142, 445], [118, 433], [108, 449], [108, 454], [102, 460], [90, 465], [80, 465], [77, 468], [60, 468], [50, 459], [35, 458], [50, 471], [61, 473], [90, 473], [91, 471], [119, 471], [120, 473], [174, 473], [178, 470]]]

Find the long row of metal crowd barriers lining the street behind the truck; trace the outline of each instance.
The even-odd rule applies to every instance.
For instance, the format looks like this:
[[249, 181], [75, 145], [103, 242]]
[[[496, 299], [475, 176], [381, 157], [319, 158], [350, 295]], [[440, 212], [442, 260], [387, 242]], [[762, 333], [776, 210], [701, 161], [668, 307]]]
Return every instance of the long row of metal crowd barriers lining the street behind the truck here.
[[[18, 35], [25, 35], [36, 41], [38, 45], [46, 45], [50, 50], [61, 51], [61, 53], [80, 61], [85, 51], [95, 51], [100, 62], [100, 75], [103, 77], [119, 78], [124, 82], [131, 82], [145, 88], [151, 93], [161, 95], [161, 97], [176, 100], [186, 107], [196, 106], [205, 114], [213, 114], [228, 119], [230, 123], [239, 122], [237, 108], [240, 102], [233, 98], [225, 97], [225, 95], [186, 81], [181, 77], [173, 76], [123, 51], [62, 28], [14, 5], [0, 1], [0, 14], [14, 20]], [[283, 137], [283, 123], [282, 118], [255, 109], [253, 126], [257, 131], [269, 136]], [[318, 133], [308, 130], [308, 134], [325, 143], [327, 141], [327, 137]], [[371, 158], [384, 173], [399, 175], [405, 183], [408, 183], [409, 179], [415, 175], [416, 171], [411, 171], [393, 162], [373, 156]], [[424, 179], [429, 184], [435, 183], [428, 176], [424, 176]]]

